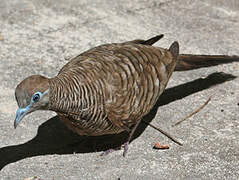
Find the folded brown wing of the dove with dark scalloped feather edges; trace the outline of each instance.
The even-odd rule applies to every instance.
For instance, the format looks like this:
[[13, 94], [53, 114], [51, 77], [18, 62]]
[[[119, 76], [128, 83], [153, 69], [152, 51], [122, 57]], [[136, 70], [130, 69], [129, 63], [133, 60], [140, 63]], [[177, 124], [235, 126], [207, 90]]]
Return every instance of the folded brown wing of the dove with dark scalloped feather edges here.
[[114, 50], [105, 98], [107, 116], [114, 124], [130, 127], [154, 106], [176, 64], [169, 51], [138, 44]]

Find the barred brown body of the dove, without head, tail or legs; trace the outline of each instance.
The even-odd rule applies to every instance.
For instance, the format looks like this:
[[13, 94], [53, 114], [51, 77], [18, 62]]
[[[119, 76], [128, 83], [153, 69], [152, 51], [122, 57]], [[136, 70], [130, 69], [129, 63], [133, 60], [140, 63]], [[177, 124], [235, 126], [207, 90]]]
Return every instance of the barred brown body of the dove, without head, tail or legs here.
[[82, 135], [119, 133], [146, 115], [175, 68], [169, 50], [128, 42], [73, 58], [50, 80], [50, 108]]

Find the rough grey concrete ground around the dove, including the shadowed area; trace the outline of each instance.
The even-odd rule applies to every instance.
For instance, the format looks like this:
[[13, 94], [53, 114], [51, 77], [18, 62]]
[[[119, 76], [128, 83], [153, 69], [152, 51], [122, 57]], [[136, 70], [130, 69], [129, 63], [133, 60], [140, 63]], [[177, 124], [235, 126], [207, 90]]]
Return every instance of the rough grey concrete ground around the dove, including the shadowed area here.
[[[126, 157], [101, 157], [124, 134], [77, 136], [53, 112], [36, 112], [15, 130], [16, 85], [52, 77], [69, 57], [102, 43], [165, 37], [181, 53], [239, 55], [238, 0], [1, 0], [0, 179], [239, 179], [239, 63], [175, 72], [145, 117], [183, 142], [144, 124]], [[209, 104], [176, 127], [172, 125]], [[153, 149], [154, 142], [169, 144]]]

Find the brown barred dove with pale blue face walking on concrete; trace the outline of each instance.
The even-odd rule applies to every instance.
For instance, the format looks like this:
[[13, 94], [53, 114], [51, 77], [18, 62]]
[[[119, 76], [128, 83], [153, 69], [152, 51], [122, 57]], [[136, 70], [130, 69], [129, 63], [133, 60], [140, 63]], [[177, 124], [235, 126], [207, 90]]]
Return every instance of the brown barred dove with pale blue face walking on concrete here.
[[168, 49], [153, 46], [162, 37], [103, 44], [70, 59], [55, 77], [27, 77], [15, 90], [19, 108], [14, 127], [34, 111], [54, 111], [79, 135], [128, 132], [122, 145], [125, 156], [136, 128], [156, 104], [174, 70], [238, 60], [236, 56], [179, 54], [177, 41]]

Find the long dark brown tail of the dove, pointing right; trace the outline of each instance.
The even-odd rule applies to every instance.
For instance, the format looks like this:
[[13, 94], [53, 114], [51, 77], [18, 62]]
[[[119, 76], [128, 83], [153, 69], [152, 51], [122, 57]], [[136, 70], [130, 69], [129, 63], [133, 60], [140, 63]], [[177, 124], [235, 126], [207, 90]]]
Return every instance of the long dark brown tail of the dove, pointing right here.
[[239, 56], [180, 54], [175, 71], [187, 71], [219, 64], [239, 62]]

